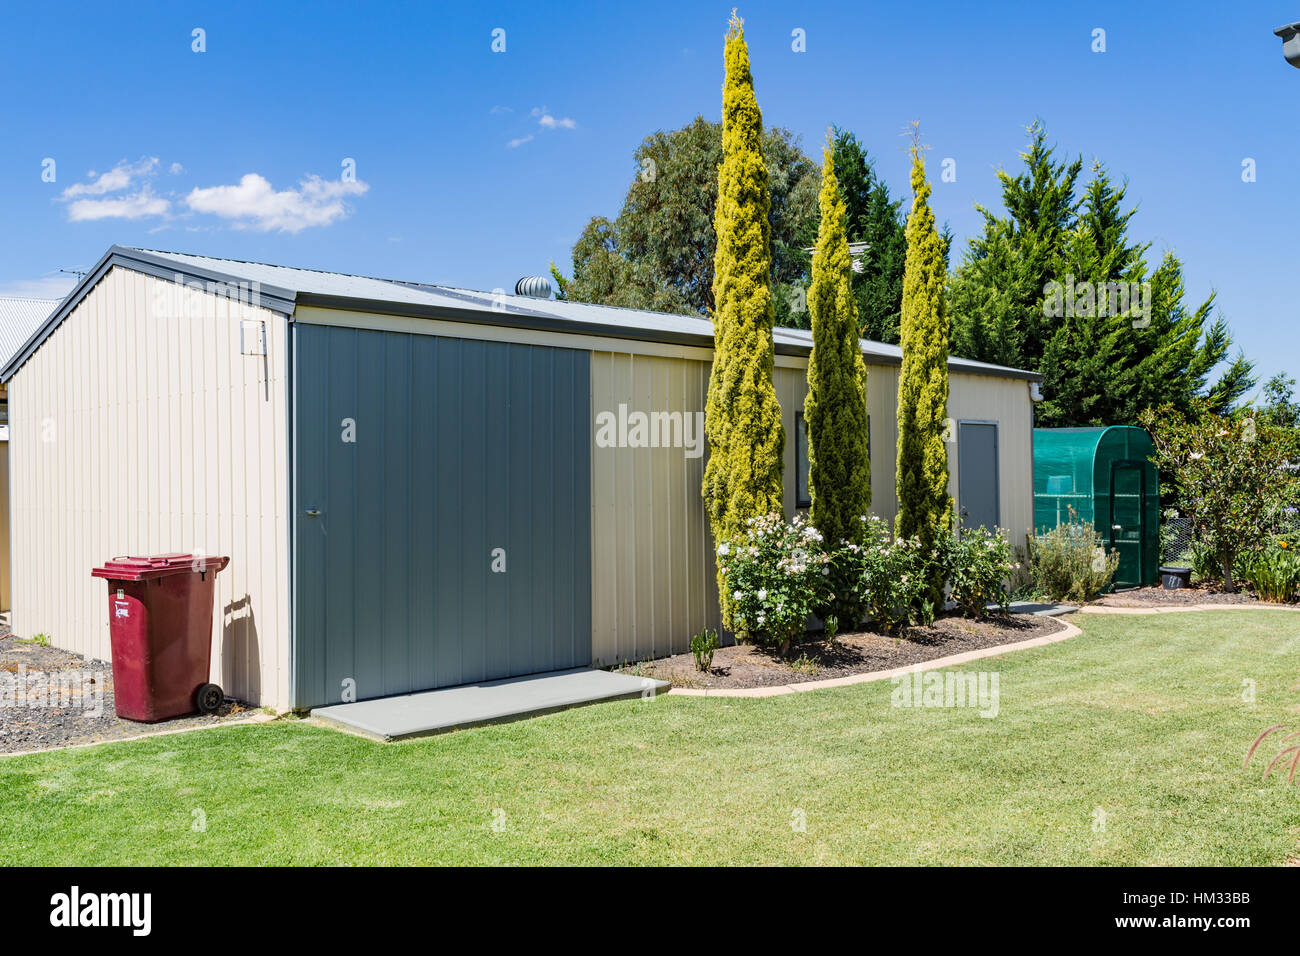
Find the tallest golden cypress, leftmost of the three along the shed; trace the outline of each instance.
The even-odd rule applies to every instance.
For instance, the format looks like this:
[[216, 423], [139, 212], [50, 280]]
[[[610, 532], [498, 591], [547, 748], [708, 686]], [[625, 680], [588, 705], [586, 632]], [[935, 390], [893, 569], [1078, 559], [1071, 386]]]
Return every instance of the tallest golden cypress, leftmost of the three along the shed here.
[[[714, 229], [714, 364], [705, 432], [708, 463], [702, 488], [715, 541], [745, 520], [781, 510], [785, 431], [772, 385], [771, 194], [763, 160], [763, 114], [754, 98], [749, 49], [732, 12], [724, 49], [723, 161]], [[719, 576], [723, 619], [731, 619]]]

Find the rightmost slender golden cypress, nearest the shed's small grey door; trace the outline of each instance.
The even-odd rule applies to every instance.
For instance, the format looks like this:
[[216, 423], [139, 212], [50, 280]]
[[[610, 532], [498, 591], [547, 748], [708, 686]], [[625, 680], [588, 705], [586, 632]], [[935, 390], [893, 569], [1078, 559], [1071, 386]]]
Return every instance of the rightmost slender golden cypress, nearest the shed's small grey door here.
[[[930, 182], [919, 143], [911, 147], [911, 215], [907, 216], [907, 260], [902, 278], [898, 372], [898, 537], [919, 537], [927, 553], [953, 527], [948, 494], [949, 320], [944, 307], [944, 247], [930, 208]], [[942, 574], [930, 581], [927, 598], [942, 600]]]

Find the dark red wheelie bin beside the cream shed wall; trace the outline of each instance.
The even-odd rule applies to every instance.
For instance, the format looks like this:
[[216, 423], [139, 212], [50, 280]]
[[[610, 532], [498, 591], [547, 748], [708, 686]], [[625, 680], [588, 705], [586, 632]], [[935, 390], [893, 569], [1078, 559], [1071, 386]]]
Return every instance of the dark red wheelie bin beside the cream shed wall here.
[[108, 580], [117, 715], [155, 723], [209, 714], [224, 693], [208, 683], [217, 574], [230, 558], [159, 554], [113, 558], [91, 571]]

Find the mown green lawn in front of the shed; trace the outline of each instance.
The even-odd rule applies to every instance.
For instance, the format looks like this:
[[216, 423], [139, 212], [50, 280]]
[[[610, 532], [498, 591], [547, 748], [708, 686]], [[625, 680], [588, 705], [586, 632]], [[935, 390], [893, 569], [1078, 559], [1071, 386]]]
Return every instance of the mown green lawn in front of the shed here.
[[[1261, 782], [1262, 765], [1242, 769], [1260, 730], [1296, 718], [1300, 691], [1287, 688], [1300, 615], [1078, 620], [1082, 637], [962, 669], [1000, 674], [993, 719], [893, 708], [883, 682], [623, 701], [396, 745], [283, 721], [3, 758], [0, 855], [312, 865], [1300, 856], [1300, 787]], [[1247, 678], [1253, 705], [1242, 700]], [[1275, 752], [1261, 748], [1266, 760]]]

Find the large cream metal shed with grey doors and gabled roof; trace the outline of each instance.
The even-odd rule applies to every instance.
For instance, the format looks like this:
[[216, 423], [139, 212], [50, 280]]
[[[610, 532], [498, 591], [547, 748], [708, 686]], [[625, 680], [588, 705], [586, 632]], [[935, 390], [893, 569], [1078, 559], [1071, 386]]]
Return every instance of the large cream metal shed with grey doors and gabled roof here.
[[[793, 512], [811, 339], [774, 339]], [[90, 568], [185, 550], [231, 557], [214, 679], [277, 709], [682, 652], [718, 624], [711, 347], [703, 319], [114, 246], [0, 373], [14, 630], [107, 659]], [[862, 347], [892, 519], [901, 352]], [[1037, 376], [949, 371], [953, 496], [1023, 540]]]

